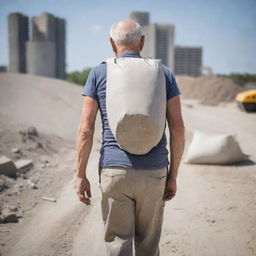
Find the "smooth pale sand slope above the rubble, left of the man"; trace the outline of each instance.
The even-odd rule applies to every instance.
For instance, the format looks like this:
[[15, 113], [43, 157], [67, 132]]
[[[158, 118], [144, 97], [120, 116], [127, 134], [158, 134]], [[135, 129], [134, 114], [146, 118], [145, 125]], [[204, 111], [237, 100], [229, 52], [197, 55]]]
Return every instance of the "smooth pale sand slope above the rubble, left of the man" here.
[[0, 74], [0, 118], [20, 130], [35, 126], [39, 132], [74, 140], [79, 124], [82, 87], [30, 74]]

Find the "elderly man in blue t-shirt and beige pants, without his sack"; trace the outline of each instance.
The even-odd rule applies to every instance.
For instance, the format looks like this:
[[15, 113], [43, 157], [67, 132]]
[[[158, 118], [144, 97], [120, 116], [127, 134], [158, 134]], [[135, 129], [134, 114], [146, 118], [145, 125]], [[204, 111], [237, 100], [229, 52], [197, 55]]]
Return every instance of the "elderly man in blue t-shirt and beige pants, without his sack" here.
[[[116, 58], [142, 58], [140, 51], [144, 45], [144, 36], [138, 23], [132, 20], [119, 21], [112, 25], [110, 34]], [[184, 150], [180, 90], [169, 68], [163, 65], [163, 70], [166, 119], [170, 131], [170, 162], [165, 131], [159, 143], [146, 154], [131, 154], [117, 143], [106, 110], [106, 62], [90, 71], [82, 92], [85, 97], [77, 134], [77, 194], [81, 202], [90, 205], [91, 188], [86, 166], [99, 108], [103, 142], [98, 172], [104, 238], [109, 256], [132, 255], [133, 241], [136, 256], [159, 255], [165, 201], [171, 200], [176, 194], [176, 180]]]

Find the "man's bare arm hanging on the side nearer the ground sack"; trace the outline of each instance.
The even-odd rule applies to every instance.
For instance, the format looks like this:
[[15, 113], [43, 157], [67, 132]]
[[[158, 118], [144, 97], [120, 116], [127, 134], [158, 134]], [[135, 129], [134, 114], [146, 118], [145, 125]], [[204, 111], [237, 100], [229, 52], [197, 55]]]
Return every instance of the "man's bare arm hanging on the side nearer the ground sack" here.
[[166, 118], [170, 131], [171, 164], [166, 181], [165, 199], [170, 200], [176, 194], [176, 179], [185, 146], [185, 127], [179, 95], [167, 101]]

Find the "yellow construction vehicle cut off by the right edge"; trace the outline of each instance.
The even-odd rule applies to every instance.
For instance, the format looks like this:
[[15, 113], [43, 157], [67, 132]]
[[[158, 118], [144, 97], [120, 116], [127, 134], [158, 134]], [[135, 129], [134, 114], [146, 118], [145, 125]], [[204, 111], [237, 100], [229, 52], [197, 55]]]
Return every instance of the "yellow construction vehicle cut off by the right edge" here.
[[246, 112], [256, 112], [256, 90], [240, 92], [236, 95], [240, 109]]

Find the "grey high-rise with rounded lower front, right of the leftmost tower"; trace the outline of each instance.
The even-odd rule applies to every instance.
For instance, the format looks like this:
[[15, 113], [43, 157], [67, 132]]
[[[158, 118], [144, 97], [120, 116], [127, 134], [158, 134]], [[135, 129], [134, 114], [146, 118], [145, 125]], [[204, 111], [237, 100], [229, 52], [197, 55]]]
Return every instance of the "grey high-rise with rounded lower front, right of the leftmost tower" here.
[[27, 53], [33, 53], [28, 56], [28, 73], [65, 79], [65, 20], [49, 13], [33, 17]]

